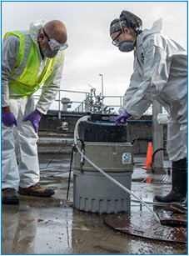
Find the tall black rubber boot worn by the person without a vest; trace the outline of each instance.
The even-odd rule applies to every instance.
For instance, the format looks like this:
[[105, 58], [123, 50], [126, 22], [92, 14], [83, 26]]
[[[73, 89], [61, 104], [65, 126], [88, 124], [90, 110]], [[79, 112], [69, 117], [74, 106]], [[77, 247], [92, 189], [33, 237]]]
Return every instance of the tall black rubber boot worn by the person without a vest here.
[[172, 191], [166, 196], [157, 194], [155, 200], [162, 203], [182, 203], [187, 198], [187, 158], [172, 162]]

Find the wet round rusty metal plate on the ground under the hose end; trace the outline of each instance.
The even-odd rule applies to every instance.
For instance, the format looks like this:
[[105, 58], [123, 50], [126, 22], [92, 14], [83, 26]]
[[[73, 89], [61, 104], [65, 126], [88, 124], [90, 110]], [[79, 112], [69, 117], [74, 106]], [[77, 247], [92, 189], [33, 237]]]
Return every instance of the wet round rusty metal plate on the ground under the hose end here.
[[158, 217], [163, 224], [158, 224], [151, 213], [142, 211], [113, 215], [105, 218], [105, 223], [119, 232], [142, 238], [187, 243], [187, 214], [176, 213], [173, 218], [172, 213], [167, 213], [166, 217]]

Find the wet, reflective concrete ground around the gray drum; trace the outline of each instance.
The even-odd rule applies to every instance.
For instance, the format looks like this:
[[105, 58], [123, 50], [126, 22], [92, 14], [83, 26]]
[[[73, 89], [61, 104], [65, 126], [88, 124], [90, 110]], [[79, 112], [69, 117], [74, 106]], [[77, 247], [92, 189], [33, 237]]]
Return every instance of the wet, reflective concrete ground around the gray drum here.
[[[53, 156], [40, 153], [39, 162], [41, 184], [55, 188], [54, 196], [20, 195], [19, 205], [2, 204], [2, 254], [187, 254], [187, 243], [169, 243], [117, 232], [104, 223], [112, 214], [78, 211], [73, 207], [72, 178], [67, 200], [71, 155], [57, 155], [46, 168]], [[171, 179], [168, 177], [165, 183], [145, 182], [146, 171], [141, 168], [145, 160], [135, 158], [132, 192], [152, 202], [155, 194], [170, 191]], [[166, 161], [165, 166], [171, 163]], [[163, 210], [170, 211], [170, 208]], [[152, 214], [145, 206], [132, 202], [131, 213], [140, 211], [147, 213], [150, 227]]]

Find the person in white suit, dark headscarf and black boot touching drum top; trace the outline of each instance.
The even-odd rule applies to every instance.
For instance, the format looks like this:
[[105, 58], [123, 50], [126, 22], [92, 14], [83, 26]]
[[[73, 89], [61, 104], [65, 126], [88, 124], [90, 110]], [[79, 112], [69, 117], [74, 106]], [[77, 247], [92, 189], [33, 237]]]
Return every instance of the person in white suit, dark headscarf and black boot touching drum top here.
[[[167, 110], [167, 153], [172, 161], [172, 191], [156, 195], [158, 202], [187, 198], [187, 53], [162, 34], [162, 18], [142, 31], [142, 20], [122, 11], [110, 25], [112, 44], [122, 52], [134, 50], [134, 72], [123, 97], [116, 124], [141, 118], [157, 100]], [[184, 202], [186, 206], [187, 201]]]

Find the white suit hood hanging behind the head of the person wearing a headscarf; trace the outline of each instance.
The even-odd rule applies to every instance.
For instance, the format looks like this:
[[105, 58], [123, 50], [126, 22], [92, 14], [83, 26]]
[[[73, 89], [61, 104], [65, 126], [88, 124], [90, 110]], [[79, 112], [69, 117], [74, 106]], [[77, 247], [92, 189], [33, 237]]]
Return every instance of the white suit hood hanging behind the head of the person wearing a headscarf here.
[[149, 35], [154, 35], [154, 33], [162, 33], [162, 18], [154, 22], [151, 29], [145, 28], [142, 33], [137, 36], [137, 46], [140, 46]]

